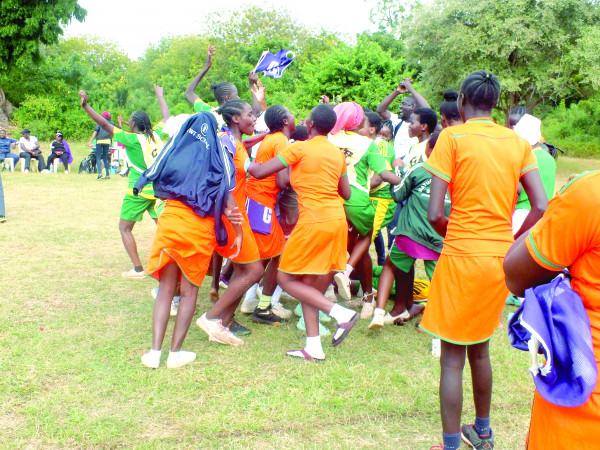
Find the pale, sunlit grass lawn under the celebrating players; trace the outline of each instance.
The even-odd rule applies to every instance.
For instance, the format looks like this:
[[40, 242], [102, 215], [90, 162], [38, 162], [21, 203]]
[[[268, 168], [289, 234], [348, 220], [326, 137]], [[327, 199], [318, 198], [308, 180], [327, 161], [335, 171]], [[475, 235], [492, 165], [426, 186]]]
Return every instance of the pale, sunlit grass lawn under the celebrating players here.
[[[1, 448], [427, 449], [441, 441], [439, 363], [412, 324], [376, 333], [361, 321], [339, 348], [324, 338], [327, 360], [308, 364], [285, 356], [304, 343], [295, 324], [267, 328], [239, 315], [252, 329], [246, 345], [208, 342], [192, 324], [184, 349], [197, 352], [194, 363], [169, 370], [163, 355], [160, 369], [143, 367], [157, 283], [121, 277], [131, 267], [117, 229], [127, 181], [77, 174], [87, 150], [72, 147], [69, 175], [2, 173]], [[557, 187], [599, 168], [561, 158]], [[154, 230], [148, 217], [134, 229], [143, 261]], [[533, 397], [528, 357], [505, 331], [491, 347], [497, 447], [522, 448]], [[471, 422], [468, 368], [464, 385]]]

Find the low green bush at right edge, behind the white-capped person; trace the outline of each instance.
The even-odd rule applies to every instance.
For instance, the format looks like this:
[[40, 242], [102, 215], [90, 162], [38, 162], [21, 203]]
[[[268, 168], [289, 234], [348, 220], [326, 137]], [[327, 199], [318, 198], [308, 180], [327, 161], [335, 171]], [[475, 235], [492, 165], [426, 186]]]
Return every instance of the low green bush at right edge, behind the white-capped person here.
[[561, 103], [542, 117], [542, 135], [566, 155], [600, 158], [600, 105], [593, 99]]

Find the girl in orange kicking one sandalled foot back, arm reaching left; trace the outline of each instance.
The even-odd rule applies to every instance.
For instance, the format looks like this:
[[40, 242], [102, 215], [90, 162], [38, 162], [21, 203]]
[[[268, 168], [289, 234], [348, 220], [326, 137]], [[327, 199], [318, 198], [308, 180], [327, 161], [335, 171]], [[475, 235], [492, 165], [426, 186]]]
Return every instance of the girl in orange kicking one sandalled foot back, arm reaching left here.
[[335, 112], [319, 105], [306, 120], [310, 139], [295, 142], [264, 164], [251, 164], [258, 179], [291, 167], [291, 185], [298, 193], [300, 217], [279, 264], [279, 285], [302, 303], [306, 346], [287, 354], [308, 361], [325, 359], [319, 336], [319, 311], [338, 322], [332, 345], [346, 338], [358, 314], [329, 301], [323, 294], [335, 272], [346, 267], [348, 226], [340, 196], [350, 198], [343, 153], [327, 140]]

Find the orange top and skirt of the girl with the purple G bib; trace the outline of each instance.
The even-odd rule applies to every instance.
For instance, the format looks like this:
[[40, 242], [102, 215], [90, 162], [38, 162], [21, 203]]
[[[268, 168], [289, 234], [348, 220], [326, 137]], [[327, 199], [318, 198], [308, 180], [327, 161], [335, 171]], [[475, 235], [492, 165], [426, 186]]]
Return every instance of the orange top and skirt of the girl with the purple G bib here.
[[[276, 157], [287, 145], [287, 137], [282, 132], [269, 134], [260, 144], [255, 162], [262, 164], [269, 161]], [[256, 240], [261, 259], [281, 255], [285, 246], [285, 235], [275, 216], [275, 203], [277, 202], [277, 194], [279, 193], [275, 177], [276, 175], [273, 174], [262, 180], [257, 180], [253, 176], [249, 176], [246, 181], [246, 195], [248, 198], [271, 209], [271, 232], [269, 234], [254, 232], [254, 239]]]

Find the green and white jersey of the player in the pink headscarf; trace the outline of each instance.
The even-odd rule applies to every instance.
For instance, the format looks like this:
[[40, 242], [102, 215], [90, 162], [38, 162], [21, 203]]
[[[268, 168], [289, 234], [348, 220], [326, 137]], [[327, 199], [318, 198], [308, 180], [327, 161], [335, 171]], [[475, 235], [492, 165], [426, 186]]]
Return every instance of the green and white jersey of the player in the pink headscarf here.
[[348, 181], [352, 195], [350, 200], [344, 201], [344, 204], [370, 205], [369, 182], [372, 174], [380, 174], [391, 169], [377, 145], [368, 137], [344, 130], [335, 135], [329, 135], [329, 142], [337, 145], [346, 155]]

